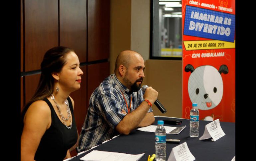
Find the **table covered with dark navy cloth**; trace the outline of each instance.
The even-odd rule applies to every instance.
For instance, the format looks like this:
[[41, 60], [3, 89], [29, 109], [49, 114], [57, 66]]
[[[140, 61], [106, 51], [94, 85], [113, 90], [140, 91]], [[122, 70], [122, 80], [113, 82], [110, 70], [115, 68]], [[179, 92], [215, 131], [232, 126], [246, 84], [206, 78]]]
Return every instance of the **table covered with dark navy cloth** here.
[[[154, 125], [157, 125], [158, 120], [166, 119], [167, 117], [155, 117]], [[169, 117], [168, 117], [169, 118]], [[199, 121], [199, 137], [192, 138], [189, 136], [190, 121], [188, 119], [181, 119], [182, 124], [180, 125], [168, 125], [180, 127], [187, 125], [187, 127], [179, 134], [166, 134], [166, 138], [180, 139], [180, 143], [187, 142], [188, 147], [195, 157], [196, 161], [216, 161], [216, 160], [227, 160], [235, 156], [235, 123], [234, 122], [220, 122], [221, 128], [226, 134], [216, 141], [211, 139], [198, 140], [203, 135], [204, 127], [211, 121]], [[166, 144], [166, 159], [168, 159], [172, 148], [179, 145], [177, 143]], [[141, 154], [145, 153], [140, 161], [146, 161], [149, 155], [155, 154], [155, 133], [145, 132], [139, 130], [133, 130], [129, 135], [120, 135], [112, 140], [109, 140], [94, 149], [91, 149], [85, 153], [82, 153], [71, 161], [79, 161], [81, 157], [88, 154], [92, 150], [100, 151], [111, 151], [127, 154]]]

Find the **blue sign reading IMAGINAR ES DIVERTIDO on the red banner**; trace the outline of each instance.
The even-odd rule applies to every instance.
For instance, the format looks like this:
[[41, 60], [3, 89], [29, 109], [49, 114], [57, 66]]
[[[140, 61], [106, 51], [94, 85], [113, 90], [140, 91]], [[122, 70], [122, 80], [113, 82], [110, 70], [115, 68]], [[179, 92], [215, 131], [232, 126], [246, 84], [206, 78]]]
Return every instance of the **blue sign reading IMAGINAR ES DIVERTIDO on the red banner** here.
[[187, 5], [184, 35], [234, 42], [235, 15]]

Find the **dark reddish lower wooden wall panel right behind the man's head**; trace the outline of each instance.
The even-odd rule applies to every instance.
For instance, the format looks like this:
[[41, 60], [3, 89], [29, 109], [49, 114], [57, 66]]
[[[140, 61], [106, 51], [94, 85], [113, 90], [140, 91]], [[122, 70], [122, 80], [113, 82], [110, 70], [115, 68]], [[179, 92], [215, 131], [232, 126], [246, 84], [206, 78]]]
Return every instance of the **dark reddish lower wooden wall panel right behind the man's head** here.
[[88, 65], [87, 107], [93, 91], [109, 76], [109, 62]]

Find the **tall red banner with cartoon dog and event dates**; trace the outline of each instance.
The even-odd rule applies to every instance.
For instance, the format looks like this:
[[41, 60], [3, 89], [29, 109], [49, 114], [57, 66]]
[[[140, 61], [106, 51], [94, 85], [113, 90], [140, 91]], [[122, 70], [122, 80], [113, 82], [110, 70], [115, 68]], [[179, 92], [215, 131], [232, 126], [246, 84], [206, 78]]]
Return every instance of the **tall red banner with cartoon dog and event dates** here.
[[235, 122], [235, 0], [182, 0], [182, 117]]

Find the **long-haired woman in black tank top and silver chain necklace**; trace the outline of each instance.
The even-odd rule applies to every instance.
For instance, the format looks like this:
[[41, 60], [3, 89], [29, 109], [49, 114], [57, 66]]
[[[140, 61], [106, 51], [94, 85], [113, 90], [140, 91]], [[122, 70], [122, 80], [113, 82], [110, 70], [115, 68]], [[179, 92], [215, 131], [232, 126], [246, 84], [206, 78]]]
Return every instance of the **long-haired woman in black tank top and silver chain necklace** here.
[[71, 48], [48, 50], [36, 93], [21, 114], [21, 160], [64, 160], [77, 141], [69, 94], [80, 88], [83, 72]]

